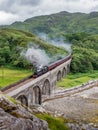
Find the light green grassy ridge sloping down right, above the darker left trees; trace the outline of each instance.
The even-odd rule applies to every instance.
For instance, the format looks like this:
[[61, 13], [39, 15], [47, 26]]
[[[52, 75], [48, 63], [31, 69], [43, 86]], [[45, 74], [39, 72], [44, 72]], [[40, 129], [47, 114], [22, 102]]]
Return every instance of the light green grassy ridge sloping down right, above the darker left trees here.
[[29, 42], [32, 42], [33, 44], [39, 46], [41, 49], [44, 49], [46, 53], [49, 53], [52, 56], [56, 54], [66, 54], [66, 51], [64, 49], [50, 45], [29, 32], [7, 28], [0, 29], [0, 43], [8, 42], [9, 38], [13, 38], [13, 41], [17, 41], [18, 46], [24, 48], [27, 48], [27, 44]]

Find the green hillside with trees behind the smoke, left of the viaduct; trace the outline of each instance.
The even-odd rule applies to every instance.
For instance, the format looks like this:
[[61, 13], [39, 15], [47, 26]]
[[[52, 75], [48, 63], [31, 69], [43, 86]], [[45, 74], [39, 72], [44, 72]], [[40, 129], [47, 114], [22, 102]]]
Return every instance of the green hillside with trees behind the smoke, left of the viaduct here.
[[29, 32], [0, 29], [0, 66], [28, 67], [30, 63], [23, 58], [21, 52], [26, 51], [29, 46], [37, 46], [52, 59], [58, 59], [67, 54], [64, 49], [50, 45]]

